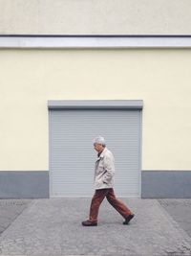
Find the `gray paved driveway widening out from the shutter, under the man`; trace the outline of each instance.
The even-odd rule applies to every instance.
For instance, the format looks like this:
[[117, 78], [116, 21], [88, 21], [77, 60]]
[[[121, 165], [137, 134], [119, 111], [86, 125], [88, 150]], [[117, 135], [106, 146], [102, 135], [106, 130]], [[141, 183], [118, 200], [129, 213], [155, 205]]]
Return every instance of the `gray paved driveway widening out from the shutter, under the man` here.
[[127, 226], [103, 202], [96, 227], [83, 227], [90, 198], [35, 199], [0, 236], [0, 255], [191, 255], [191, 238], [156, 199], [123, 198]]

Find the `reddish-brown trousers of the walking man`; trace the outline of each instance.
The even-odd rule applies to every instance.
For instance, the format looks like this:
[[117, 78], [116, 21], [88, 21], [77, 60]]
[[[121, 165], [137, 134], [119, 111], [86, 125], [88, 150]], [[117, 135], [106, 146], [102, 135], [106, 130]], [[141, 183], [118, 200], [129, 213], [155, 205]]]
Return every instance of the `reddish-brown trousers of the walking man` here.
[[114, 189], [98, 189], [96, 190], [95, 195], [92, 198], [89, 221], [97, 222], [98, 209], [105, 197], [124, 219], [126, 219], [130, 214], [132, 214], [132, 212], [127, 208], [127, 206], [116, 198], [114, 194]]

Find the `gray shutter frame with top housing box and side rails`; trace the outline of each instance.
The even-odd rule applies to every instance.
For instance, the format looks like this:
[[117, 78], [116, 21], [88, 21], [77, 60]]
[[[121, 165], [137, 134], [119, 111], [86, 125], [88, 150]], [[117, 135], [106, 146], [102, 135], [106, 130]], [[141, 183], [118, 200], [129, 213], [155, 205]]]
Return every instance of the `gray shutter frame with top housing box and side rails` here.
[[[55, 109], [126, 109], [128, 111], [131, 109], [139, 110], [139, 148], [138, 148], [138, 180], [139, 180], [139, 195], [138, 198], [141, 197], [141, 158], [142, 158], [142, 108], [143, 101], [142, 100], [126, 100], [126, 101], [48, 101], [48, 109], [49, 109], [49, 173], [50, 173], [50, 198], [56, 198], [53, 196], [53, 179], [52, 179], [52, 170], [51, 170], [51, 153], [52, 153], [52, 145], [51, 145], [51, 110]], [[88, 197], [89, 198], [89, 197]]]

